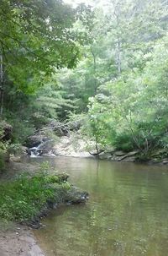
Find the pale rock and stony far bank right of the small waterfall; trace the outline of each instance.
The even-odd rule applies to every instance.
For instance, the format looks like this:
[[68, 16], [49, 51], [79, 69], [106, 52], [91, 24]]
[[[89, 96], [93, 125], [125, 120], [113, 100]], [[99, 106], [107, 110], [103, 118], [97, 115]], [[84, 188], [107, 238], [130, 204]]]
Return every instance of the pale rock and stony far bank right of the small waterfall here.
[[[41, 144], [39, 136], [34, 136], [36, 142]], [[40, 137], [41, 139], [41, 137]], [[45, 139], [45, 138], [44, 138]], [[48, 140], [50, 141], [50, 140]], [[43, 144], [44, 145], [44, 144]], [[45, 145], [46, 146], [46, 145]], [[96, 158], [108, 161], [135, 162], [143, 164], [168, 164], [168, 154], [166, 149], [155, 149], [152, 152], [149, 150], [132, 150], [125, 152], [116, 150], [113, 146], [108, 146], [95, 150], [95, 144], [92, 141], [87, 141], [81, 138], [79, 134], [71, 133], [68, 136], [61, 136], [59, 140], [52, 145], [52, 150], [47, 150], [47, 147], [42, 149], [41, 156], [65, 156], [77, 158]]]

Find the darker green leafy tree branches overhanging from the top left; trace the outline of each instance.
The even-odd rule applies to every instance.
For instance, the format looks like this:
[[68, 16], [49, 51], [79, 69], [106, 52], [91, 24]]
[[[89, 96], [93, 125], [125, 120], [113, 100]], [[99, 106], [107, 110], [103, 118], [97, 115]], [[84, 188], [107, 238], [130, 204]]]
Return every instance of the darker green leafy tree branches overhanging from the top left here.
[[80, 8], [75, 10], [61, 1], [2, 1], [1, 114], [6, 84], [32, 94], [55, 68], [76, 66], [78, 45], [84, 42], [85, 35], [73, 30], [73, 23], [87, 17], [87, 13], [84, 15]]

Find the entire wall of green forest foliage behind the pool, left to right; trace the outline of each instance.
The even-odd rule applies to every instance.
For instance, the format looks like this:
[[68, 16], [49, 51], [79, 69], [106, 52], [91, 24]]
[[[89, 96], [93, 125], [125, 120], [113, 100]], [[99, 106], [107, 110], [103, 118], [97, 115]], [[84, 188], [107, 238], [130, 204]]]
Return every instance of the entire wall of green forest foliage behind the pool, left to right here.
[[166, 1], [113, 0], [91, 11], [3, 0], [0, 12], [1, 115], [13, 143], [82, 115], [81, 133], [97, 150], [166, 156]]

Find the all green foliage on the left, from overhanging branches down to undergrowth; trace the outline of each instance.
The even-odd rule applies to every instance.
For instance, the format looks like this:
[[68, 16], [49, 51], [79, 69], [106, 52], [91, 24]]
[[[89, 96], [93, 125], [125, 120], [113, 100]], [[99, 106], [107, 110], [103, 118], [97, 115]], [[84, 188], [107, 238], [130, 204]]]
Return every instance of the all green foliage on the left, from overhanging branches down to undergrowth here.
[[[10, 143], [24, 144], [35, 129], [73, 108], [55, 74], [74, 68], [80, 46], [89, 41], [91, 9], [62, 1], [3, 0], [0, 10], [0, 151], [5, 153], [3, 120], [13, 126]], [[90, 21], [90, 22], [89, 22]], [[77, 29], [74, 24], [80, 23]], [[53, 75], [53, 77], [52, 77]], [[67, 98], [67, 97], [66, 97]]]

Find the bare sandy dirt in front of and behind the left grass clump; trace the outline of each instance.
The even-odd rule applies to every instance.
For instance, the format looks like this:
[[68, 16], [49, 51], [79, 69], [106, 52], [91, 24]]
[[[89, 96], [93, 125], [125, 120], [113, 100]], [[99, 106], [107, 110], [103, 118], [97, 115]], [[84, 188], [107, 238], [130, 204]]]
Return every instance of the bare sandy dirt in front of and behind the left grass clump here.
[[[37, 165], [10, 162], [1, 180], [13, 179], [20, 172], [34, 172]], [[31, 228], [0, 221], [0, 256], [44, 256], [37, 245]]]

